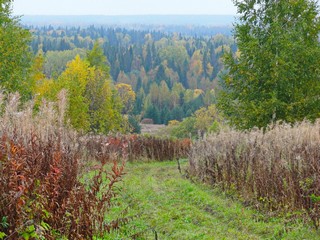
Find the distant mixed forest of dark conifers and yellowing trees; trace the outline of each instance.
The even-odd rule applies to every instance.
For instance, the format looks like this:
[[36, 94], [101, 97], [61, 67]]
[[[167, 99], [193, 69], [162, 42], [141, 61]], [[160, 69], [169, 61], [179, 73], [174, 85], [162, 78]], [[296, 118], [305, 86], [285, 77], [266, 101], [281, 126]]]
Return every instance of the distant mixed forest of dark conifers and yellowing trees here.
[[[43, 71], [55, 78], [76, 55], [98, 42], [115, 84], [131, 86], [134, 98], [123, 114], [167, 124], [182, 120], [215, 102], [214, 89], [223, 69], [221, 57], [234, 40], [224, 35], [186, 37], [161, 31], [104, 27], [31, 28], [34, 53], [43, 52]], [[122, 86], [123, 87], [123, 86]], [[128, 88], [127, 88], [128, 89]]]

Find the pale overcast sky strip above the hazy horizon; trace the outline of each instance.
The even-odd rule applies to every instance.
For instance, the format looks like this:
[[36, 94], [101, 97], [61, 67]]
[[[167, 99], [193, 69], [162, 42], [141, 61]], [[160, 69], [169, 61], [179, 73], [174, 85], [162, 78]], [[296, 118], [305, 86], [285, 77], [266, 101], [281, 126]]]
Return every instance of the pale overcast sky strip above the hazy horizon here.
[[18, 15], [236, 14], [232, 0], [14, 0]]

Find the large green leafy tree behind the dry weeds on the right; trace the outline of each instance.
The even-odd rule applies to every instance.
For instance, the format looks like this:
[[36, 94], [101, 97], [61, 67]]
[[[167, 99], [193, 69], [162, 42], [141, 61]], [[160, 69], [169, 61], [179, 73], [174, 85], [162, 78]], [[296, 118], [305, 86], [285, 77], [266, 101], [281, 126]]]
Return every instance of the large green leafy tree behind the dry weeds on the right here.
[[239, 53], [228, 54], [219, 108], [240, 129], [320, 116], [320, 21], [313, 0], [234, 1]]

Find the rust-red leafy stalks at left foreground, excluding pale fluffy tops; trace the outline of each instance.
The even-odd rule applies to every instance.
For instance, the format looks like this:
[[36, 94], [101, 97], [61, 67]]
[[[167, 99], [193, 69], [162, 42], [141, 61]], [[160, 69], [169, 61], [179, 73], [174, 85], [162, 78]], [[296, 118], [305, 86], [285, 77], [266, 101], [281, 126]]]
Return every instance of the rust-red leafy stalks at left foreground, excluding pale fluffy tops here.
[[106, 173], [100, 164], [89, 184], [82, 183], [80, 151], [30, 139], [27, 145], [18, 136], [0, 140], [0, 232], [8, 239], [92, 239], [118, 228], [124, 220], [106, 223], [104, 216], [124, 166], [114, 162]]

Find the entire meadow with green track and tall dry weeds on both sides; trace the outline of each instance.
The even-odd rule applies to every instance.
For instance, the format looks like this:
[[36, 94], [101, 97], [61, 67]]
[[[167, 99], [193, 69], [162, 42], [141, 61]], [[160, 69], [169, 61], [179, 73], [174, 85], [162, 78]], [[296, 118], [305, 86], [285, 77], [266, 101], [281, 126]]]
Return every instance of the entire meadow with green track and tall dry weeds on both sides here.
[[318, 123], [97, 136], [67, 127], [64, 92], [1, 99], [1, 239], [320, 237]]

